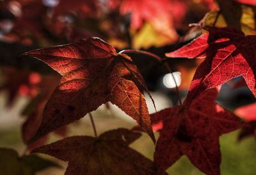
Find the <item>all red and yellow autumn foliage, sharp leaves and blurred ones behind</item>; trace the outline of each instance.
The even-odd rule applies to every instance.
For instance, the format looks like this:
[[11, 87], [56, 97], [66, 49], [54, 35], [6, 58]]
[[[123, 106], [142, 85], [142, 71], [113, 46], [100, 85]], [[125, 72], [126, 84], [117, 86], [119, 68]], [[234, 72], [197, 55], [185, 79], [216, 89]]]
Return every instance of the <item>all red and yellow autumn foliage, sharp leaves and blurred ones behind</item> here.
[[[22, 112], [27, 116], [22, 125], [26, 151], [19, 157], [13, 149], [0, 149], [4, 174], [59, 167], [34, 154], [44, 153], [68, 162], [67, 175], [167, 174], [182, 155], [205, 174], [218, 175], [219, 137], [239, 128], [239, 141], [255, 135], [255, 103], [233, 112], [216, 103], [223, 84], [232, 84], [233, 89], [248, 86], [256, 96], [255, 3], [8, 0], [0, 4], [0, 47], [9, 48], [2, 49], [0, 88], [9, 94], [8, 106], [17, 95], [31, 98]], [[179, 88], [172, 74], [175, 89], [168, 90], [176, 91], [179, 105], [157, 112], [150, 94], [156, 88], [149, 81], [173, 68], [188, 75]], [[236, 82], [239, 76], [243, 78]], [[184, 102], [181, 89], [188, 90]], [[154, 114], [148, 112], [145, 93]], [[91, 112], [109, 102], [138, 126], [98, 135]], [[86, 114], [94, 137], [67, 137], [68, 124]], [[159, 132], [157, 141], [153, 131]], [[65, 138], [44, 145], [51, 132]], [[140, 132], [156, 144], [154, 161], [130, 147]]]

